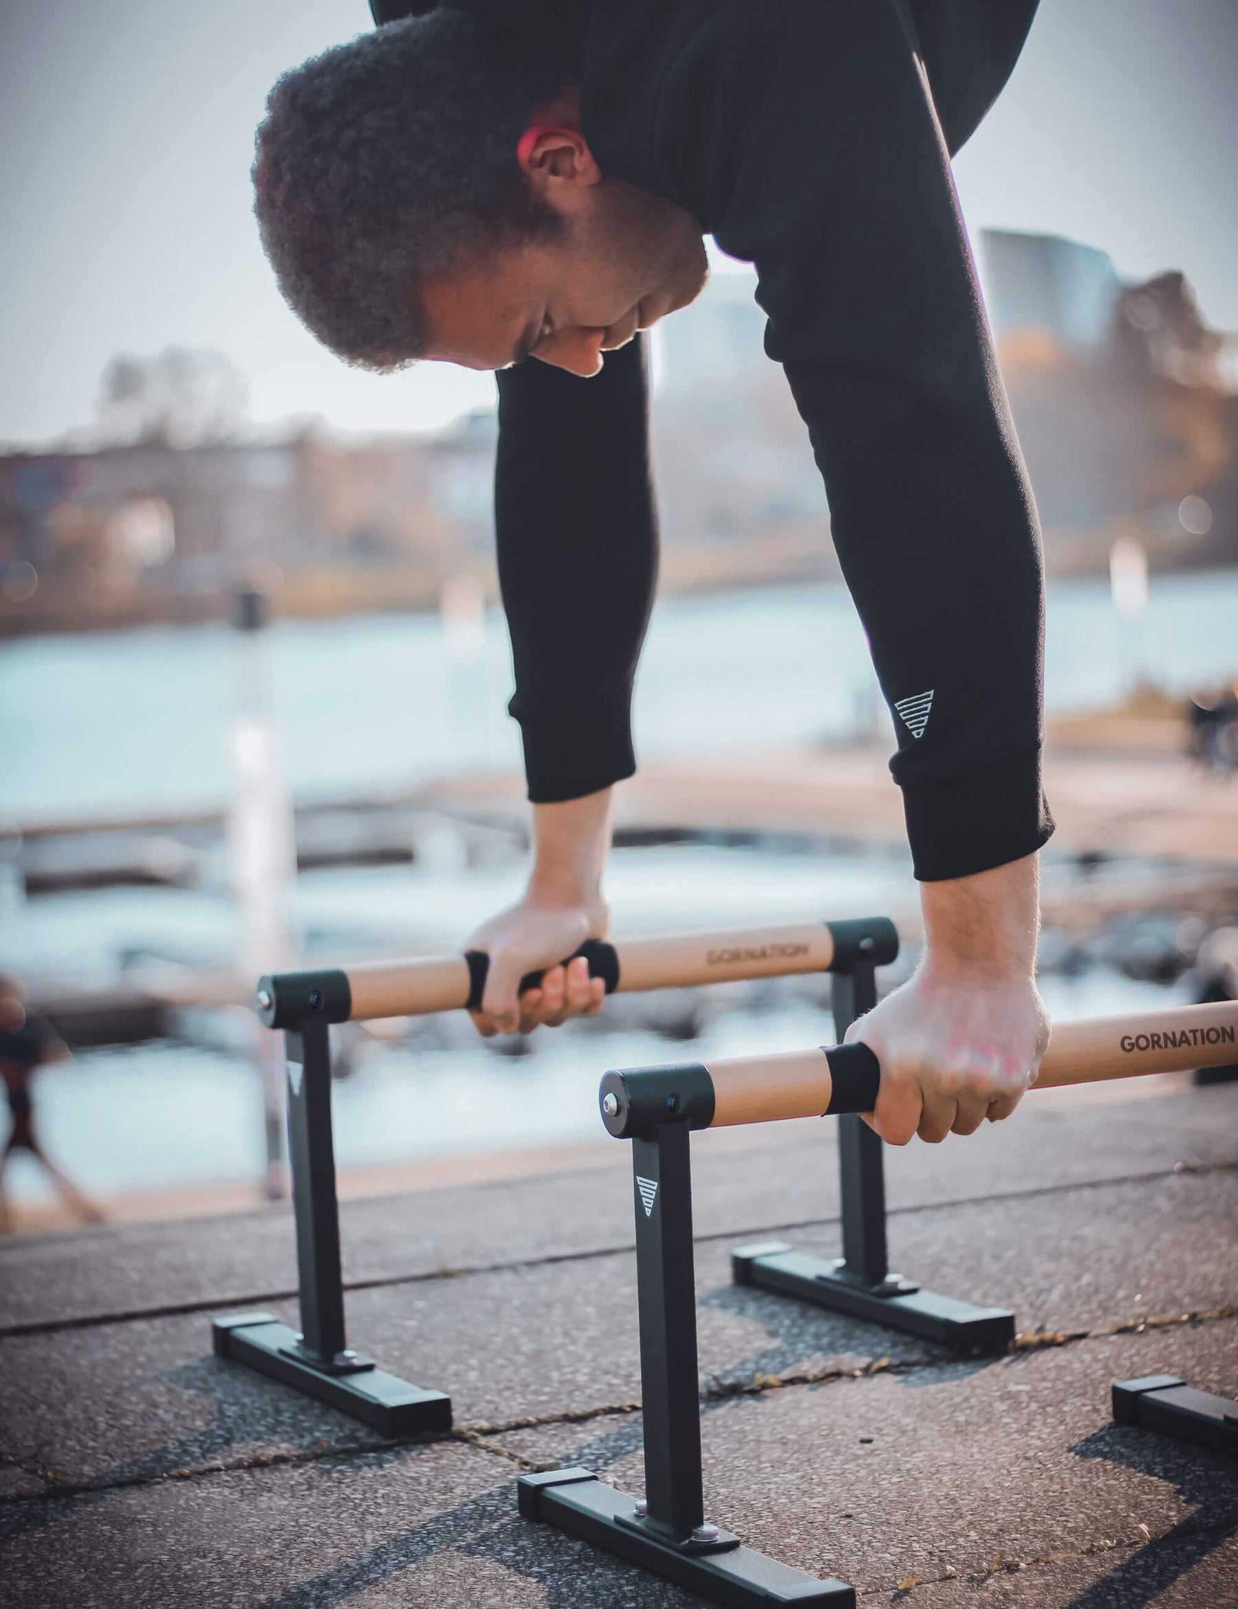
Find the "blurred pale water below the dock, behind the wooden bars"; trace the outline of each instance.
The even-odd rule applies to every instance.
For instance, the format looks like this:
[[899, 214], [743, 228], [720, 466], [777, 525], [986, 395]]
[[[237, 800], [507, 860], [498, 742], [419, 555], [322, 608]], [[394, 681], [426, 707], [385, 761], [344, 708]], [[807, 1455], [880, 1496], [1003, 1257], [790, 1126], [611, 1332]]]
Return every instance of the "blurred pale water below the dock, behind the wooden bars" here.
[[[423, 866], [348, 867], [303, 875], [298, 920], [307, 954], [340, 959], [367, 949], [456, 949], [468, 930], [522, 885], [522, 864], [449, 872]], [[876, 911], [916, 898], [905, 854], [786, 854], [676, 845], [617, 850], [607, 891], [615, 932], [757, 925]], [[0, 930], [0, 965], [55, 961], [80, 981], [108, 983], [118, 957], [155, 953], [209, 965], [235, 943], [230, 906], [190, 890], [103, 890], [32, 899]], [[1162, 1004], [1175, 998], [1109, 970], [1046, 978], [1064, 1017]], [[658, 1012], [662, 1028], [657, 1031]], [[650, 1015], [652, 1014], [652, 1015]], [[697, 1038], [668, 1038], [699, 1030]], [[262, 1107], [243, 1009], [196, 1014], [198, 1043], [82, 1052], [37, 1075], [39, 1130], [79, 1183], [101, 1195], [208, 1181], [258, 1179]], [[543, 1030], [530, 1054], [480, 1041], [464, 1017], [425, 1020], [407, 1043], [351, 1030], [348, 1078], [335, 1086], [340, 1167], [599, 1138], [596, 1089], [607, 1067], [681, 1057], [802, 1049], [832, 1038], [819, 978], [724, 985], [683, 998], [618, 996], [597, 1022]], [[13, 1197], [47, 1186], [16, 1158]]]

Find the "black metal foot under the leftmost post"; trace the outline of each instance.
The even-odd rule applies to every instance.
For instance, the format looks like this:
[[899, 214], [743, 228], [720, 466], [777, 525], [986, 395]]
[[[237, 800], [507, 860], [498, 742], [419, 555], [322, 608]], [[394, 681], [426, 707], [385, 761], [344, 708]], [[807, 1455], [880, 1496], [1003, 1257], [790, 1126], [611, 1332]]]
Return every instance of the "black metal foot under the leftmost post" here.
[[317, 1368], [299, 1350], [296, 1331], [270, 1313], [230, 1313], [213, 1319], [211, 1331], [216, 1356], [261, 1369], [293, 1390], [361, 1419], [380, 1435], [451, 1430], [451, 1397], [409, 1385], [362, 1358], [340, 1372]]

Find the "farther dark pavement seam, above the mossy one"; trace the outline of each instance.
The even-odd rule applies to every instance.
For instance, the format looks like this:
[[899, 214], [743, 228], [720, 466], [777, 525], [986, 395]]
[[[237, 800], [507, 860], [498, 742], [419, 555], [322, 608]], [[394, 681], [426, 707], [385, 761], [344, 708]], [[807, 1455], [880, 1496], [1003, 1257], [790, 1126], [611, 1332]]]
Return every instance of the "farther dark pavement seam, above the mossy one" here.
[[[1125, 1173], [1119, 1178], [1109, 1179], [1075, 1179], [1071, 1184], [1037, 1184], [1025, 1191], [993, 1191], [987, 1195], [966, 1195], [942, 1202], [921, 1202], [910, 1204], [905, 1207], [889, 1207], [885, 1212], [887, 1218], [900, 1218], [908, 1213], [916, 1212], [953, 1212], [961, 1207], [984, 1207], [993, 1202], [1006, 1200], [1030, 1200], [1043, 1195], [1056, 1195], [1064, 1191], [1087, 1191], [1087, 1189], [1104, 1189], [1111, 1184], [1154, 1184], [1158, 1179], [1172, 1178], [1198, 1178], [1211, 1173], [1235, 1173], [1238, 1171], [1238, 1162], [1201, 1162], [1201, 1163], [1177, 1163], [1172, 1168], [1162, 1168], [1153, 1173]], [[821, 1229], [842, 1221], [840, 1213], [831, 1213], [824, 1218], [797, 1218], [789, 1223], [768, 1223], [755, 1224], [739, 1229], [720, 1229], [712, 1234], [699, 1234], [692, 1237], [694, 1245], [710, 1245], [715, 1241], [747, 1241], [753, 1236], [782, 1234], [792, 1232], [795, 1229]], [[494, 1263], [473, 1263], [465, 1268], [452, 1268], [451, 1265], [443, 1265], [439, 1268], [423, 1270], [414, 1274], [388, 1274], [375, 1279], [346, 1279], [343, 1289], [346, 1294], [357, 1290], [388, 1290], [399, 1286], [415, 1286], [428, 1284], [435, 1279], [465, 1279], [477, 1274], [501, 1274], [510, 1271], [520, 1271], [525, 1268], [552, 1268], [557, 1263], [584, 1263], [592, 1258], [602, 1257], [620, 1257], [625, 1252], [636, 1250], [634, 1241], [626, 1241], [621, 1245], [596, 1245], [586, 1247], [576, 1252], [546, 1252], [543, 1257], [515, 1258], [512, 1261], [494, 1261]], [[250, 1292], [248, 1295], [235, 1297], [211, 1297], [204, 1300], [193, 1302], [174, 1302], [155, 1308], [129, 1308], [119, 1313], [95, 1313], [82, 1315], [76, 1318], [64, 1319], [32, 1319], [29, 1323], [6, 1324], [0, 1326], [0, 1340], [18, 1340], [24, 1335], [55, 1335], [60, 1331], [76, 1331], [76, 1329], [105, 1329], [111, 1324], [137, 1324], [142, 1319], [156, 1318], [187, 1318], [193, 1313], [213, 1313], [227, 1311], [229, 1308], [248, 1308], [259, 1305], [262, 1302], [295, 1302], [299, 1290], [259, 1290]]]

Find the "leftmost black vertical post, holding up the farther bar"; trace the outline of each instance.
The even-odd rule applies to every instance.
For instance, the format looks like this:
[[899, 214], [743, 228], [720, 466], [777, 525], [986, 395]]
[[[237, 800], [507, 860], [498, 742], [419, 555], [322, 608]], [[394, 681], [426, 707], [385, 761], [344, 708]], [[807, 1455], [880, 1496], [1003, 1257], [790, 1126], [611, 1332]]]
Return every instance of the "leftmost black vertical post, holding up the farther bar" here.
[[303, 1022], [299, 1030], [288, 1030], [283, 1043], [288, 1057], [288, 1160], [301, 1281], [301, 1350], [330, 1368], [345, 1350], [345, 1287], [327, 1023]]

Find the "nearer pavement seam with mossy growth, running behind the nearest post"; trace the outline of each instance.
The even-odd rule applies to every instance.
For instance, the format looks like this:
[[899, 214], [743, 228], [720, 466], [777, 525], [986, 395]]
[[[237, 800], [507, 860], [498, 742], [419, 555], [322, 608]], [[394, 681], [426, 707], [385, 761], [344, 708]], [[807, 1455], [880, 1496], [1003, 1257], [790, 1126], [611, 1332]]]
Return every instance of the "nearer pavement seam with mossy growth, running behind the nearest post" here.
[[[1151, 1315], [1137, 1319], [1124, 1319], [1117, 1324], [1111, 1324], [1106, 1329], [1098, 1331], [1072, 1331], [1072, 1332], [1056, 1332], [1048, 1334], [1045, 1339], [1034, 1342], [1034, 1347], [1069, 1347], [1080, 1340], [1106, 1340], [1116, 1335], [1127, 1334], [1143, 1334], [1146, 1329], [1170, 1327], [1175, 1324], [1204, 1324], [1211, 1321], [1224, 1321], [1238, 1316], [1238, 1307], [1225, 1307], [1215, 1310], [1198, 1310], [1195, 1313], [1170, 1313], [1170, 1315]], [[1035, 1335], [1035, 1332], [1034, 1332]], [[1005, 1356], [1016, 1356], [1021, 1350], [1016, 1345]], [[995, 1353], [990, 1361], [998, 1361], [1003, 1353]], [[749, 1381], [723, 1382], [716, 1377], [713, 1385], [707, 1385], [700, 1392], [699, 1400], [702, 1403], [720, 1403], [728, 1401], [736, 1397], [763, 1397], [768, 1392], [787, 1390], [794, 1385], [832, 1385], [840, 1381], [860, 1381], [874, 1374], [906, 1374], [911, 1369], [926, 1368], [948, 1368], [950, 1364], [968, 1361], [959, 1358], [958, 1353], [924, 1353], [918, 1358], [905, 1358], [893, 1363], [889, 1356], [876, 1358], [869, 1363], [861, 1364], [855, 1369], [802, 1369], [787, 1374], [753, 1374]], [[127, 1475], [119, 1480], [108, 1483], [92, 1483], [92, 1482], [64, 1482], [50, 1466], [39, 1464], [35, 1459], [23, 1459], [21, 1456], [0, 1448], [0, 1456], [3, 1456], [14, 1469], [21, 1469], [27, 1475], [34, 1475], [42, 1480], [48, 1490], [47, 1492], [19, 1492], [11, 1496], [0, 1498], [0, 1509], [14, 1508], [24, 1503], [47, 1503], [52, 1498], [71, 1498], [82, 1495], [103, 1495], [108, 1492], [121, 1492], [134, 1487], [153, 1487], [166, 1480], [198, 1480], [204, 1475], [227, 1475], [246, 1469], [272, 1469], [288, 1464], [312, 1464], [319, 1459], [327, 1458], [364, 1458], [367, 1453], [386, 1453], [406, 1446], [433, 1446], [443, 1445], [446, 1442], [460, 1442], [467, 1446], [477, 1446], [481, 1451], [493, 1453], [499, 1458], [506, 1458], [509, 1463], [518, 1467], [526, 1467], [530, 1471], [541, 1469], [557, 1469], [560, 1467], [559, 1459], [554, 1461], [536, 1461], [528, 1459], [526, 1455], [517, 1453], [512, 1448], [504, 1446], [501, 1442], [494, 1442], [493, 1437], [502, 1435], [509, 1430], [541, 1430], [559, 1424], [586, 1424], [591, 1419], [605, 1419], [618, 1416], [631, 1416], [641, 1411], [639, 1400], [623, 1401], [623, 1403], [604, 1403], [594, 1408], [576, 1408], [559, 1414], [536, 1416], [530, 1414], [520, 1419], [506, 1419], [493, 1424], [475, 1424], [475, 1426], [457, 1426], [444, 1435], [428, 1432], [425, 1435], [411, 1437], [391, 1437], [380, 1442], [367, 1443], [346, 1443], [336, 1446], [316, 1446], [316, 1448], [299, 1448], [288, 1453], [256, 1453], [250, 1458], [240, 1459], [219, 1459], [213, 1464], [204, 1464], [200, 1469], [166, 1469], [153, 1475]], [[884, 1591], [889, 1588], [882, 1588]]]

